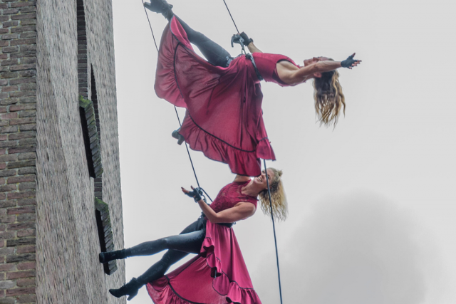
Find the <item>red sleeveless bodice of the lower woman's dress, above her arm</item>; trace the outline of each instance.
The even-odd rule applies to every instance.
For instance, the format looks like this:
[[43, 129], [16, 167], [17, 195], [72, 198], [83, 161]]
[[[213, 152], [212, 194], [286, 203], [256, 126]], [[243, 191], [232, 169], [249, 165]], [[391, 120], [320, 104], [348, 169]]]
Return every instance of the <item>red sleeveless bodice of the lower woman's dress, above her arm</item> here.
[[247, 186], [247, 182], [232, 182], [220, 190], [210, 207], [216, 212], [234, 207], [240, 201], [249, 202], [257, 207], [257, 197], [245, 195], [242, 193], [242, 187]]

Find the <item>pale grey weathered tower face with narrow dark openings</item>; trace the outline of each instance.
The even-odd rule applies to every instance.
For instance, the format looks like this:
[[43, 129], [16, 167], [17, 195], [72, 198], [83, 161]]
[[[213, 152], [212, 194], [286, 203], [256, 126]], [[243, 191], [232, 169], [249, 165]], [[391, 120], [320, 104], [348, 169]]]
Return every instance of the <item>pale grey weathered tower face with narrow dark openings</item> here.
[[[123, 248], [111, 1], [36, 5], [36, 303], [125, 303], [108, 293], [125, 283], [124, 261], [110, 275], [98, 261], [94, 197], [103, 194]], [[98, 100], [103, 187], [89, 174], [79, 95]]]

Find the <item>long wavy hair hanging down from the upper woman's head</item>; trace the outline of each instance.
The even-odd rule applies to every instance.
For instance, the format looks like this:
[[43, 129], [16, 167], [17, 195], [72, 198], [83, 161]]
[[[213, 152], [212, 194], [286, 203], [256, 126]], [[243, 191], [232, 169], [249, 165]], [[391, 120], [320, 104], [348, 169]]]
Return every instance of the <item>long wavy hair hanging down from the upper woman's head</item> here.
[[343, 115], [345, 115], [346, 106], [337, 70], [321, 73], [321, 78], [314, 78], [314, 89], [318, 121], [321, 124], [336, 127], [341, 108], [343, 107]]

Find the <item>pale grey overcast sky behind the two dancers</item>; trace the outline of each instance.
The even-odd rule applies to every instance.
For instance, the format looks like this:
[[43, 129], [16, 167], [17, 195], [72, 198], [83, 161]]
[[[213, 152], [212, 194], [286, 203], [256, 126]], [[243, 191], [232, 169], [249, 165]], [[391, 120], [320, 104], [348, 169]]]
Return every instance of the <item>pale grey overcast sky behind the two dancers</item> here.
[[[222, 0], [175, 0], [175, 14], [236, 56]], [[227, 0], [267, 53], [343, 69], [346, 117], [320, 127], [311, 82], [262, 83], [266, 130], [284, 170], [289, 219], [276, 225], [284, 303], [456, 303], [456, 2]], [[174, 108], [155, 95], [157, 51], [140, 0], [113, 0], [125, 246], [179, 233], [200, 210]], [[150, 13], [160, 40], [167, 21]], [[181, 117], [184, 112], [180, 111]], [[234, 175], [192, 152], [214, 198]], [[234, 226], [254, 287], [279, 303], [271, 221]], [[127, 281], [161, 254], [129, 258]], [[134, 303], [152, 303], [145, 288]]]

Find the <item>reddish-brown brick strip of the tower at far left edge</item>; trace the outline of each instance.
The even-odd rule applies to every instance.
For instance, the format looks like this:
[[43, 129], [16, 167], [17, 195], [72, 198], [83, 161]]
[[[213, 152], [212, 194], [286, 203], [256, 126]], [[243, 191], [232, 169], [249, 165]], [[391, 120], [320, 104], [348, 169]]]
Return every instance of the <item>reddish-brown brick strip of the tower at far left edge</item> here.
[[35, 1], [0, 0], [0, 22], [0, 303], [35, 303]]

